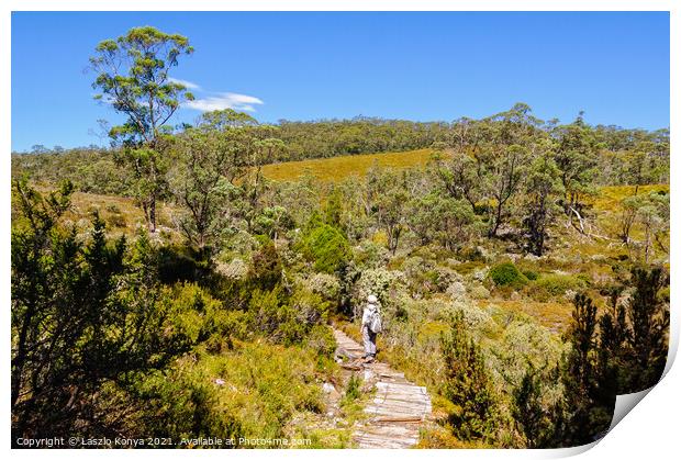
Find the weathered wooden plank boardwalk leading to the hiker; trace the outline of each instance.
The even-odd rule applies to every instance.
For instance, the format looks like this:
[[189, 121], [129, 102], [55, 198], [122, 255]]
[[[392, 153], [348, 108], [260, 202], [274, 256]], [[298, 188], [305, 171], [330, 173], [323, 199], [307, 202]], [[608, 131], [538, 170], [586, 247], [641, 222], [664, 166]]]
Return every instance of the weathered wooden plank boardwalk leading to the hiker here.
[[[334, 329], [336, 356], [357, 360], [362, 347], [345, 333]], [[404, 449], [418, 442], [418, 429], [431, 416], [431, 396], [425, 386], [417, 386], [404, 374], [384, 362], [357, 366], [364, 380], [376, 386], [376, 394], [365, 412], [369, 419], [354, 433], [360, 449]]]

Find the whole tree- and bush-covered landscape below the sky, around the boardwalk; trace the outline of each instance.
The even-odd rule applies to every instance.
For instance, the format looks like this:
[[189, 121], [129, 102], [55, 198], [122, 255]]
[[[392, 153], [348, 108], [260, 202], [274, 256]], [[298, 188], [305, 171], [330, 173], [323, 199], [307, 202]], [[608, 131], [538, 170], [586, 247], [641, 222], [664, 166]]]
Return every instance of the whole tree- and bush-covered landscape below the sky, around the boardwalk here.
[[[148, 26], [100, 43], [93, 86], [125, 117], [111, 146], [12, 154], [14, 442], [351, 447], [370, 391], [339, 378], [332, 327], [356, 336], [368, 294], [378, 359], [433, 397], [418, 447], [588, 444], [615, 395], [661, 377], [668, 130], [523, 103], [435, 123], [225, 109], [176, 126], [192, 94], [167, 77], [192, 52]], [[264, 172], [423, 148], [422, 166], [334, 181]]]

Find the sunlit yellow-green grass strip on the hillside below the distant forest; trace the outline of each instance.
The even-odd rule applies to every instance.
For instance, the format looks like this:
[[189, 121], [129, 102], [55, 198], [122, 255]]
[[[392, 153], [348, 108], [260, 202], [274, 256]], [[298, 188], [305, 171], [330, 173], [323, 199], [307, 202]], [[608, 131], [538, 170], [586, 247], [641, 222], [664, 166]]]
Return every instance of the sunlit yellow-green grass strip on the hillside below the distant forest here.
[[312, 175], [322, 181], [339, 181], [351, 176], [364, 176], [375, 165], [383, 168], [406, 169], [423, 167], [433, 150], [424, 148], [384, 154], [346, 155], [333, 158], [309, 159], [267, 165], [265, 177], [277, 181], [292, 181]]

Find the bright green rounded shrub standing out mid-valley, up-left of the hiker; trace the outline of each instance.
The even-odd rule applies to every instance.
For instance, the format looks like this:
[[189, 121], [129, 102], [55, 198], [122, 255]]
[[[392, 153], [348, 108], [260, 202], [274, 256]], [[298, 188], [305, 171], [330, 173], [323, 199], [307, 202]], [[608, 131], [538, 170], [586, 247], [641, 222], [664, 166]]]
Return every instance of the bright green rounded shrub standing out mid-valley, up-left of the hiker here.
[[312, 228], [302, 240], [302, 251], [314, 261], [314, 269], [334, 273], [350, 259], [350, 247], [345, 235], [327, 224]]

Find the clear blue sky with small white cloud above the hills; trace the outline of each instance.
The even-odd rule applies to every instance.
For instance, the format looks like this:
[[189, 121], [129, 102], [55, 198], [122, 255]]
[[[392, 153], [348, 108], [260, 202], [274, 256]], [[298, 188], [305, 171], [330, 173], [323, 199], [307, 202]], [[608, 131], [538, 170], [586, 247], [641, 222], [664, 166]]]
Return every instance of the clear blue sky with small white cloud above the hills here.
[[528, 103], [537, 116], [669, 126], [669, 14], [14, 12], [12, 149], [102, 144], [94, 46], [130, 27], [189, 37], [174, 77], [197, 109], [231, 105], [261, 122], [353, 117], [451, 121]]

